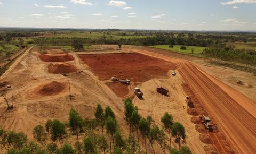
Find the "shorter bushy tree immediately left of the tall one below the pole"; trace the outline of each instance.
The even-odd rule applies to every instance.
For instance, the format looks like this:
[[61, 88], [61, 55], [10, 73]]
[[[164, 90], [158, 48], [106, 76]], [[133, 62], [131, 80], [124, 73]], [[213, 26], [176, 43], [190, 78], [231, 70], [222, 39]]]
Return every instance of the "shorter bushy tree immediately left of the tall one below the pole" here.
[[60, 146], [62, 146], [63, 139], [66, 138], [67, 132], [65, 124], [61, 123], [58, 119], [54, 119], [52, 122], [51, 139], [53, 142], [59, 140]]

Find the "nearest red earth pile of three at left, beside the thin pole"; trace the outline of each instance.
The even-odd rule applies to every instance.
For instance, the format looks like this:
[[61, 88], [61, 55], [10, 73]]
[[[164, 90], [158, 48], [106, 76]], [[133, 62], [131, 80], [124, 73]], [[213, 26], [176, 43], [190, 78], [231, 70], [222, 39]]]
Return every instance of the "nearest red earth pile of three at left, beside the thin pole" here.
[[41, 95], [55, 95], [65, 89], [65, 86], [57, 81], [45, 84], [40, 90], [39, 94]]

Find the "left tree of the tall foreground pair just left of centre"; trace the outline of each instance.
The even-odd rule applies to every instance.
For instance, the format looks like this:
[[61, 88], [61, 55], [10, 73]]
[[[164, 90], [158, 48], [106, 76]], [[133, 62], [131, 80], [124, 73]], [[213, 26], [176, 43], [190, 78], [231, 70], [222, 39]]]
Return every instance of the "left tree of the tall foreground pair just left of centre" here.
[[[97, 124], [100, 125], [102, 130], [102, 138], [104, 138], [104, 127], [105, 127], [105, 114], [103, 113], [103, 109], [100, 104], [97, 104], [94, 116], [96, 118]], [[103, 143], [103, 142], [102, 142]], [[105, 146], [103, 146], [104, 154], [106, 153]]]

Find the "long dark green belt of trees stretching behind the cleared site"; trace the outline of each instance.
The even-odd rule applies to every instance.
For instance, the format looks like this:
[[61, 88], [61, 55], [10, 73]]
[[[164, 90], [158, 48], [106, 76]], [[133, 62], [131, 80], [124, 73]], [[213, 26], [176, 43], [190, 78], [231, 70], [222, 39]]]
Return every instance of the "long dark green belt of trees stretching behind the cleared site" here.
[[203, 46], [209, 47], [215, 44], [221, 44], [227, 41], [252, 41], [253, 38], [247, 38], [245, 36], [219, 36], [219, 35], [193, 35], [189, 33], [185, 35], [184, 33], [179, 33], [174, 35], [174, 33], [164, 33], [157, 34], [153, 36], [148, 36], [144, 38], [129, 38], [120, 40], [115, 39], [106, 39], [102, 37], [100, 39], [91, 39], [91, 38], [66, 38], [66, 37], [55, 37], [55, 38], [37, 38], [35, 39], [36, 44], [42, 46], [48, 45], [71, 45], [74, 39], [78, 39], [84, 44], [118, 44], [121, 42], [126, 45], [142, 45], [142, 46], [151, 46], [151, 45], [189, 45], [189, 46]]

